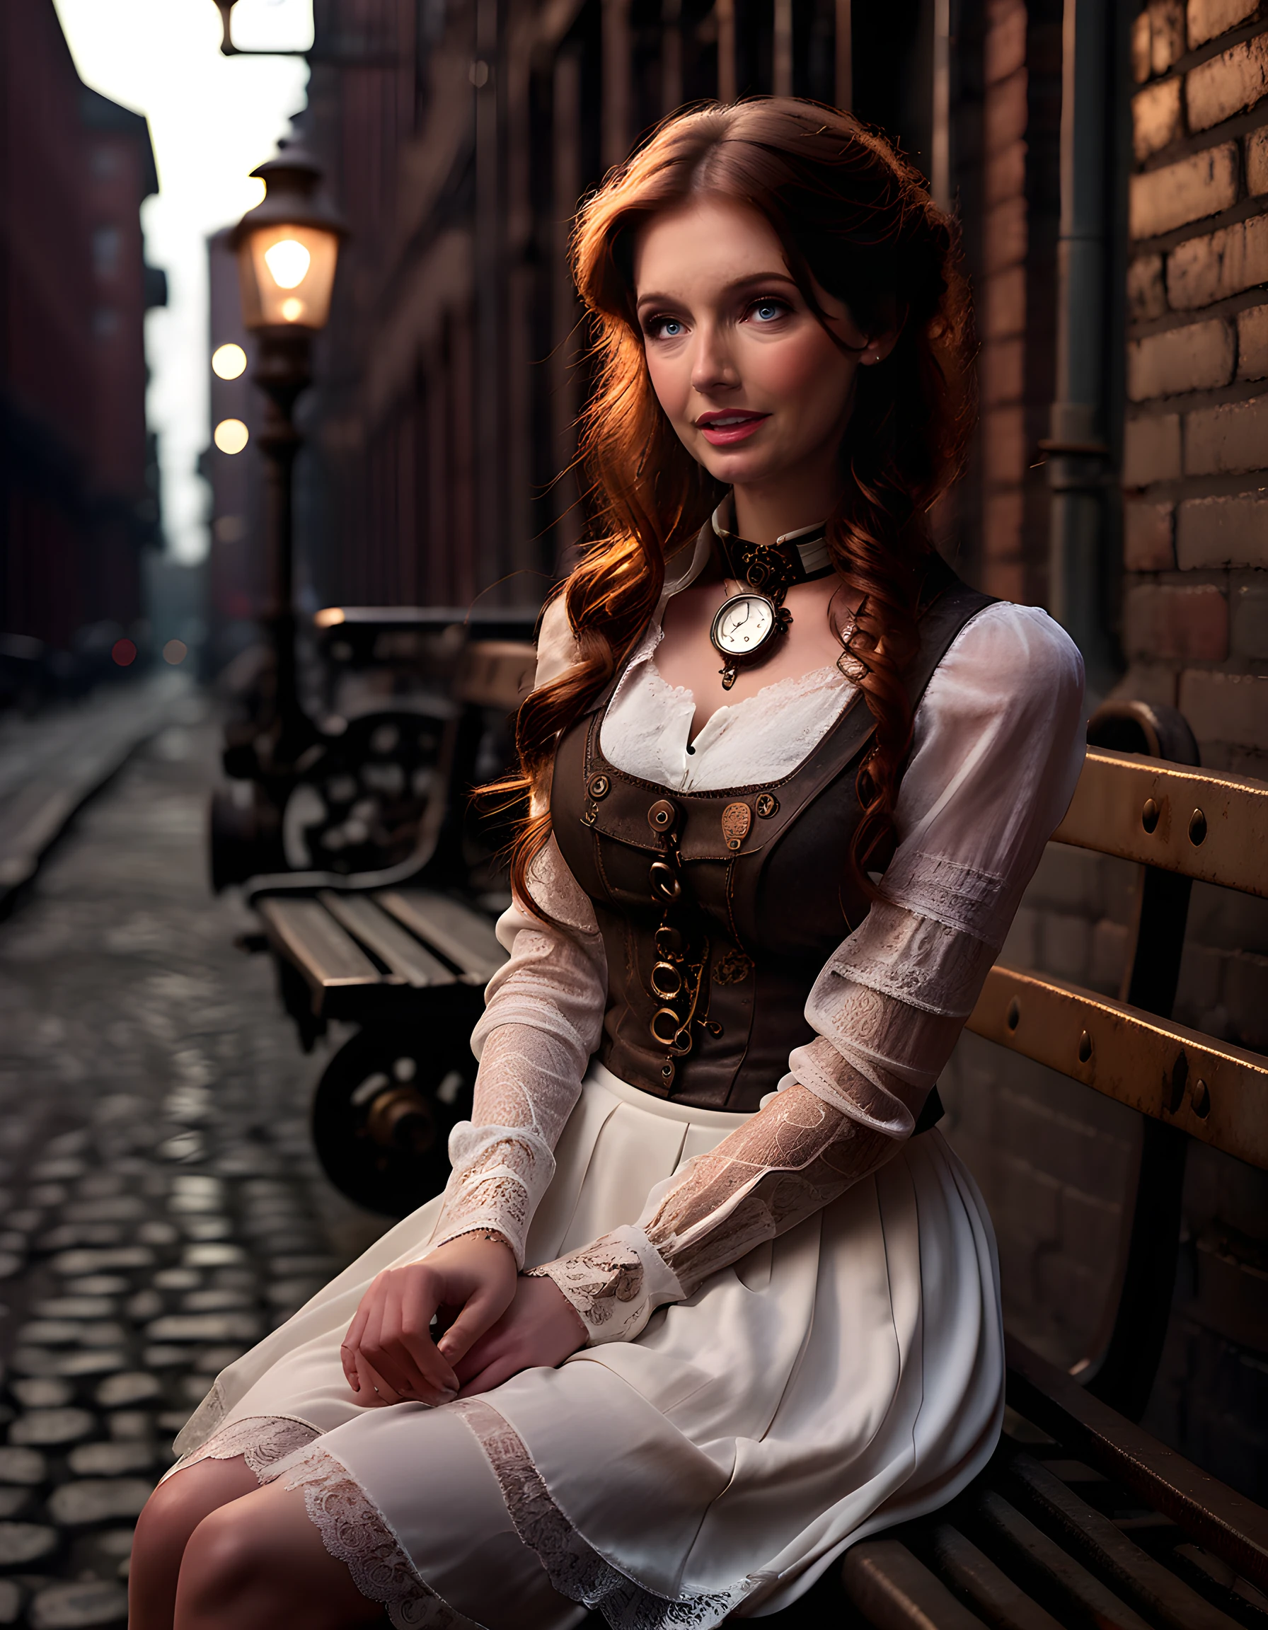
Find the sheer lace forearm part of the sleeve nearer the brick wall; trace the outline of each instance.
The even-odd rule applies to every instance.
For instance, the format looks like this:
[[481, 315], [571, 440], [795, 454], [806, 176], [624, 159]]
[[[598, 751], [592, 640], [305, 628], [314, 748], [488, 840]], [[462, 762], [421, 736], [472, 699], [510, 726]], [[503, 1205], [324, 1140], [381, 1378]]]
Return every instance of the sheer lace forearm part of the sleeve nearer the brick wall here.
[[530, 1276], [559, 1286], [585, 1324], [588, 1345], [629, 1341], [658, 1306], [694, 1294], [709, 1275], [836, 1200], [898, 1148], [792, 1086], [658, 1183], [637, 1222]]

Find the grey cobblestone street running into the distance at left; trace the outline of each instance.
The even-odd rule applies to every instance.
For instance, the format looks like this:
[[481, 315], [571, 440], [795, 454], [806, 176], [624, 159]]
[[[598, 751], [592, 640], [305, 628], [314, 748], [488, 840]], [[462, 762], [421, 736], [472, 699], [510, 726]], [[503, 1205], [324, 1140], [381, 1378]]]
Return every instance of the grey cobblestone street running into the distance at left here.
[[303, 1058], [207, 888], [191, 698], [0, 924], [0, 1623], [125, 1614], [132, 1526], [210, 1377], [385, 1226], [324, 1183]]

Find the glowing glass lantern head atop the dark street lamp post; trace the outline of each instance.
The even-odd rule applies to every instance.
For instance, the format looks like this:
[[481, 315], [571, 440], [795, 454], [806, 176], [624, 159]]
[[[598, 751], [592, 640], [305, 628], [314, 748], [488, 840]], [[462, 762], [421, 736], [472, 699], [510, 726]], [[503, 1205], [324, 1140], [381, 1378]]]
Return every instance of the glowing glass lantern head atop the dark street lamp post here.
[[249, 329], [324, 328], [347, 228], [318, 194], [321, 168], [287, 147], [253, 174], [264, 183], [264, 199], [235, 233], [243, 321]]

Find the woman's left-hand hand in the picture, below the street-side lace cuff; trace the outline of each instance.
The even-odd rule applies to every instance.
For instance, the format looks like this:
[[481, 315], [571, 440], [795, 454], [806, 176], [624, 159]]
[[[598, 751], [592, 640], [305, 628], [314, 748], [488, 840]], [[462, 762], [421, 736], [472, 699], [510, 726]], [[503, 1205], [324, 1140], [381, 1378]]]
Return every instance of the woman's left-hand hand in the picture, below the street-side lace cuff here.
[[[347, 1384], [367, 1405], [448, 1403], [461, 1384], [451, 1366], [507, 1311], [515, 1288], [510, 1245], [476, 1234], [451, 1239], [422, 1262], [385, 1268], [339, 1350]], [[455, 1317], [432, 1341], [442, 1309]]]

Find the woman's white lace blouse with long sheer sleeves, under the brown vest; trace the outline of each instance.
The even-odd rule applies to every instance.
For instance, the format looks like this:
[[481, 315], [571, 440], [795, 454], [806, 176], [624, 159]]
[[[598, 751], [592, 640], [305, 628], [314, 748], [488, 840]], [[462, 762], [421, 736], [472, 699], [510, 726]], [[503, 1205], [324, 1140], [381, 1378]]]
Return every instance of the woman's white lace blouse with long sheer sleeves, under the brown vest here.
[[[698, 569], [699, 559], [665, 598]], [[608, 706], [601, 745], [616, 768], [668, 789], [787, 774], [854, 693], [836, 668], [820, 668], [717, 709], [693, 742], [694, 698], [657, 672], [660, 637], [657, 616]], [[556, 601], [538, 683], [570, 659]], [[592, 1341], [631, 1338], [657, 1306], [834, 1198], [911, 1133], [1069, 804], [1081, 725], [1082, 662], [1046, 613], [999, 603], [960, 631], [916, 709], [883, 898], [810, 991], [815, 1040], [792, 1051], [789, 1073], [771, 1082], [779, 1092], [751, 1121], [654, 1190], [636, 1224], [535, 1270], [559, 1284]], [[554, 841], [530, 883], [564, 927], [522, 901], [499, 923], [510, 960], [473, 1037], [473, 1118], [450, 1141], [453, 1175], [430, 1249], [494, 1229], [523, 1260], [601, 1033], [603, 942]]]

